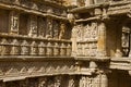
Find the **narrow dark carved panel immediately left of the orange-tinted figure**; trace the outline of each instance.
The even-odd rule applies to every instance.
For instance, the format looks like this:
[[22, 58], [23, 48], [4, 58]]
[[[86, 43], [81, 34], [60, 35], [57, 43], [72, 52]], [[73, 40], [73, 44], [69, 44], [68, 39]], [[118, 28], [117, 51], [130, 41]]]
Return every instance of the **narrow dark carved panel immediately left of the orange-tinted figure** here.
[[59, 21], [53, 21], [52, 23], [53, 25], [53, 38], [55, 39], [58, 39], [59, 38], [59, 25], [60, 25], [60, 22]]

